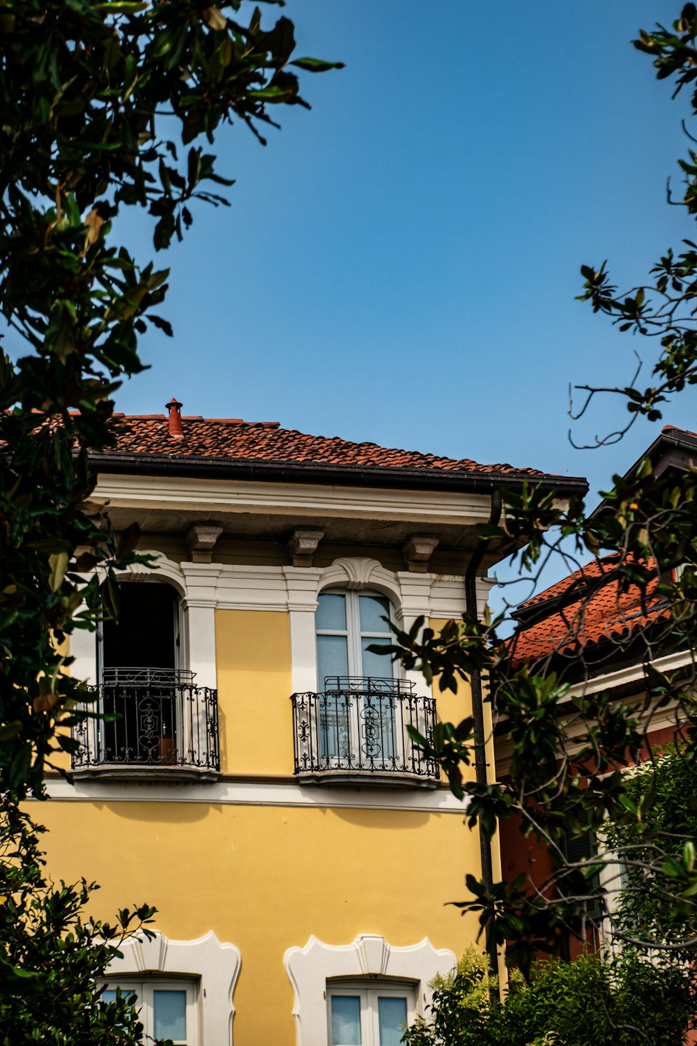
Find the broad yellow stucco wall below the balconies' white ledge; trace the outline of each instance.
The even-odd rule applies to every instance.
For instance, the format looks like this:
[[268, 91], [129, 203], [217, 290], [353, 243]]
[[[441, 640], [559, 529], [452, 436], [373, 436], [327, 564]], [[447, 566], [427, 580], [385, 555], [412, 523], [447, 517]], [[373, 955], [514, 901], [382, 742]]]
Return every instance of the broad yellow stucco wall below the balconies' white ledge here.
[[283, 953], [310, 934], [428, 936], [456, 954], [477, 934], [445, 906], [479, 867], [477, 836], [455, 814], [59, 800], [31, 813], [50, 829], [52, 877], [100, 883], [95, 915], [146, 901], [167, 936], [213, 929], [240, 949], [235, 1046], [294, 1046]]

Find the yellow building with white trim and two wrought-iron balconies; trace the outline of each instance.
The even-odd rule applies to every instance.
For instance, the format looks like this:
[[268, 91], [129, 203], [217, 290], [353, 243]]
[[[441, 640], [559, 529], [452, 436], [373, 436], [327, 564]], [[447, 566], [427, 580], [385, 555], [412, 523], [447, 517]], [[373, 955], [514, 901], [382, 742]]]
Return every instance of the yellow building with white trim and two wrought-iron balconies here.
[[120, 419], [93, 458], [95, 506], [140, 525], [154, 567], [125, 572], [118, 627], [73, 637], [115, 718], [78, 731], [74, 784], [48, 781], [49, 869], [101, 884], [96, 915], [157, 906], [109, 986], [152, 1033], [391, 1046], [477, 936], [446, 902], [480, 850], [405, 730], [458, 721], [467, 693], [368, 647], [385, 617], [462, 614], [492, 492], [559, 480], [180, 407]]

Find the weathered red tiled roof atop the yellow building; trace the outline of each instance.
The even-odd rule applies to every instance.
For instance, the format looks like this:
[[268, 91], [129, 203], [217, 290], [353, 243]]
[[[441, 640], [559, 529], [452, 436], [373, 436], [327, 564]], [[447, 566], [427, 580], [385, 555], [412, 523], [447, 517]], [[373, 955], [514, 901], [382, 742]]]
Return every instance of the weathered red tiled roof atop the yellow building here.
[[[544, 478], [536, 469], [511, 464], [480, 464], [469, 458], [449, 458], [418, 451], [396, 450], [377, 444], [354, 444], [340, 436], [311, 436], [281, 429], [278, 422], [242, 422], [239, 418], [182, 416], [183, 438], [169, 435], [162, 414], [116, 414], [116, 447], [109, 455], [160, 455], [172, 459], [217, 458], [268, 461], [282, 464], [317, 463], [329, 467], [426, 469], [436, 472], [493, 473]], [[555, 477], [556, 478], [556, 477]], [[564, 477], [559, 477], [565, 482]]]

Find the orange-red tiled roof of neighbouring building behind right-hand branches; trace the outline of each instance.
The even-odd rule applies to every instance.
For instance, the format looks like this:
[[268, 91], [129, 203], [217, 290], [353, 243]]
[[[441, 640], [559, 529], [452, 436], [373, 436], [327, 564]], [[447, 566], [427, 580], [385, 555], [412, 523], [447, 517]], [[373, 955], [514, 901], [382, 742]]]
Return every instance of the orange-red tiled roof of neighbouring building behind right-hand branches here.
[[[620, 556], [621, 553], [615, 552], [602, 560], [594, 560], [520, 606], [520, 623], [510, 639], [516, 663], [568, 653], [606, 639], [618, 639], [668, 614], [656, 592], [655, 575], [644, 591], [638, 585], [630, 585], [623, 592], [619, 581], [611, 581], [588, 594], [588, 585], [611, 572]], [[647, 564], [649, 569], [653, 566], [652, 561]], [[572, 589], [578, 590], [577, 597]], [[568, 602], [562, 599], [560, 607], [556, 601], [550, 607], [549, 614], [541, 618], [537, 616], [544, 614], [545, 602], [558, 600], [567, 591]], [[537, 610], [537, 614], [526, 627], [526, 617], [532, 608]]]

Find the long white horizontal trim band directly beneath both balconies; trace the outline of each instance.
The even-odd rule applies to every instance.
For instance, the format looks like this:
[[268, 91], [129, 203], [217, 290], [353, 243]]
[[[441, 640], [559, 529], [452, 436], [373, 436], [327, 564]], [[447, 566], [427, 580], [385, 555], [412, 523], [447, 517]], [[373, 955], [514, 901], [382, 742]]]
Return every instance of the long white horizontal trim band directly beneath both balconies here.
[[313, 806], [319, 810], [393, 810], [432, 814], [467, 813], [466, 801], [449, 789], [364, 788], [277, 781], [106, 780], [103, 777], [49, 778], [56, 802], [198, 802], [232, 806]]

